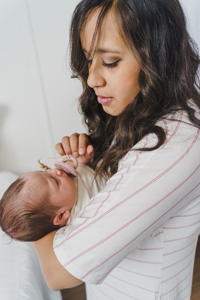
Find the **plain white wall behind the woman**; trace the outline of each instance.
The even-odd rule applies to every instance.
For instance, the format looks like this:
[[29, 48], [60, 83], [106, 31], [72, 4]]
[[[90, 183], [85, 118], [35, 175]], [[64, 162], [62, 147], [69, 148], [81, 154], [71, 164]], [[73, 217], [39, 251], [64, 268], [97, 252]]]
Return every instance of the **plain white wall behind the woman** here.
[[[38, 170], [64, 135], [86, 132], [76, 100], [82, 86], [65, 65], [77, 3], [0, 0], [0, 171]], [[181, 3], [200, 44], [199, 0]]]

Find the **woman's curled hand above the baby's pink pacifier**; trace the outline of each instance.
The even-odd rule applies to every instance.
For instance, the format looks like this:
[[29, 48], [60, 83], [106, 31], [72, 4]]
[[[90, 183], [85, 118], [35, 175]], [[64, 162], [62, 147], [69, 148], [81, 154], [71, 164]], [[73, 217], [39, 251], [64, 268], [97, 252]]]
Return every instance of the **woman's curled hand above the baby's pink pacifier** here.
[[88, 135], [78, 134], [77, 132], [70, 135], [70, 137], [63, 137], [62, 143], [55, 145], [55, 149], [58, 154], [73, 155], [79, 164], [87, 164], [92, 167], [91, 160], [94, 156], [94, 148], [89, 144]]

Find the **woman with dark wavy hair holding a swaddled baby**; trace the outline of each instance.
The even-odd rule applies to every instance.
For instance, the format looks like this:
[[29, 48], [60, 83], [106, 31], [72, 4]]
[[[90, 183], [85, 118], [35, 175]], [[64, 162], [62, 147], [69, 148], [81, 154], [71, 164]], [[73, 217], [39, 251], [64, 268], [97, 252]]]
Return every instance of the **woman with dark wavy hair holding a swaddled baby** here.
[[87, 299], [190, 299], [199, 55], [181, 5], [82, 0], [70, 53], [88, 135], [64, 137], [56, 149], [107, 183], [72, 224], [34, 242], [46, 282], [54, 290], [85, 282]]

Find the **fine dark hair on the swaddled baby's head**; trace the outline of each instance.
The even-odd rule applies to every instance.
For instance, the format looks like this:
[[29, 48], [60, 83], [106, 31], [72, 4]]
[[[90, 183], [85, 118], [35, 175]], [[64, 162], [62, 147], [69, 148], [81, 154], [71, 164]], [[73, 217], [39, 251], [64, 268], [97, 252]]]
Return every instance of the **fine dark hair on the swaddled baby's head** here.
[[52, 204], [48, 195], [41, 194], [40, 199], [34, 199], [31, 192], [27, 180], [19, 177], [0, 200], [1, 229], [16, 241], [37, 241], [60, 228], [53, 224], [60, 207]]

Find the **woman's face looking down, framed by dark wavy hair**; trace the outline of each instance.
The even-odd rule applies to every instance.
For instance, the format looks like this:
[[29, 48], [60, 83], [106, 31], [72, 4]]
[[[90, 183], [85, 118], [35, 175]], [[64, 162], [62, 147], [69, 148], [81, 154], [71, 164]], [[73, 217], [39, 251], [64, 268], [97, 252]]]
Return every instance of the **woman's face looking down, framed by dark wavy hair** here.
[[[98, 10], [91, 13], [81, 30], [81, 46], [88, 60], [90, 60], [88, 52], [97, 16]], [[111, 102], [102, 104], [103, 110], [109, 115], [118, 116], [140, 91], [138, 82], [139, 63], [118, 34], [117, 25], [110, 12], [102, 25], [98, 49], [93, 60], [88, 64], [89, 76], [87, 83], [94, 89], [97, 96], [112, 97]], [[106, 51], [100, 49], [106, 49]], [[104, 63], [112, 64], [116, 61], [118, 62], [113, 64], [112, 67], [102, 65]]]

